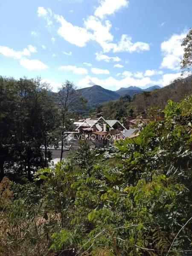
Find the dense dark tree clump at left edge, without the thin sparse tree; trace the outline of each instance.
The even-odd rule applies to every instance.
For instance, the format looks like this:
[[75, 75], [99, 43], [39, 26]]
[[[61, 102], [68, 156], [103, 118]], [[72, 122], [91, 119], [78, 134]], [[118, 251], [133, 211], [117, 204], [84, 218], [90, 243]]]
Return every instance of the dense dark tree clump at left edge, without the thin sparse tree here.
[[40, 78], [0, 77], [0, 179], [6, 172], [30, 179], [36, 168], [47, 166], [58, 111], [43, 87]]

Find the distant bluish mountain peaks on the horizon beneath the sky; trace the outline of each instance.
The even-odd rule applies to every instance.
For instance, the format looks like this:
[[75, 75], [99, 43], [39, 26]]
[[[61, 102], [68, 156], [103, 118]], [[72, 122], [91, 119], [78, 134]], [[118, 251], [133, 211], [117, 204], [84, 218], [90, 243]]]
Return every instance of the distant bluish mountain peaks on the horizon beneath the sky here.
[[121, 96], [129, 95], [133, 96], [134, 94], [142, 93], [143, 91], [152, 91], [155, 89], [160, 89], [158, 85], [148, 87], [146, 89], [141, 89], [140, 87], [130, 86], [122, 87], [119, 90], [112, 91], [107, 90], [99, 85], [93, 85], [91, 87], [79, 89], [81, 95], [87, 99], [87, 108], [95, 108], [103, 102], [108, 102], [111, 100], [119, 99]]

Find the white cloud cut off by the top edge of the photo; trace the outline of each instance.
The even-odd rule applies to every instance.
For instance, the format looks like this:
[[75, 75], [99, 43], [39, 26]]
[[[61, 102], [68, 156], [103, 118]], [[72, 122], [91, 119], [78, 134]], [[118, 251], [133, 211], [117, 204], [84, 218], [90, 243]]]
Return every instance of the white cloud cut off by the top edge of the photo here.
[[95, 10], [95, 16], [103, 19], [105, 15], [111, 15], [122, 7], [128, 6], [127, 0], [100, 0], [100, 6]]

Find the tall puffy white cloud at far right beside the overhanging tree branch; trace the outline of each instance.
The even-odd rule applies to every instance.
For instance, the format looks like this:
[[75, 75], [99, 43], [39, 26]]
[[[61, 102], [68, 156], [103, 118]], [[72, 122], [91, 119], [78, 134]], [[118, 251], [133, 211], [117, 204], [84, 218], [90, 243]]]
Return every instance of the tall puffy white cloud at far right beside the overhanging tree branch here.
[[161, 44], [161, 51], [163, 53], [163, 61], [161, 68], [170, 70], [179, 70], [180, 61], [183, 56], [183, 47], [181, 46], [182, 40], [186, 34], [172, 35], [169, 40]]

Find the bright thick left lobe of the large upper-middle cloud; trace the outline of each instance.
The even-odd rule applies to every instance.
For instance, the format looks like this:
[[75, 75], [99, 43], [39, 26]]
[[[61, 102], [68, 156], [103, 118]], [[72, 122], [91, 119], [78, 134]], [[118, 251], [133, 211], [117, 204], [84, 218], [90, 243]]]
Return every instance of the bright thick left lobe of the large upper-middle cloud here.
[[61, 25], [57, 31], [58, 35], [64, 38], [65, 41], [79, 47], [84, 47], [90, 41], [92, 35], [87, 32], [87, 29], [73, 26], [72, 23], [67, 22], [61, 15], [55, 15], [55, 19]]

